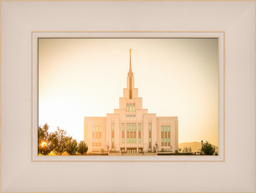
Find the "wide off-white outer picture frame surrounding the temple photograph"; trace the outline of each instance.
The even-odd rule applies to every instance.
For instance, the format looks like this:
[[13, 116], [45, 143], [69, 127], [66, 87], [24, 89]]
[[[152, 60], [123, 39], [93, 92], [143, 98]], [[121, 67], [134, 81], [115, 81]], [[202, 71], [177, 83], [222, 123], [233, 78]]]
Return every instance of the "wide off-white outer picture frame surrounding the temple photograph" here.
[[[255, 191], [254, 1], [2, 1], [1, 13], [2, 192]], [[35, 31], [225, 34], [225, 160], [33, 160]]]

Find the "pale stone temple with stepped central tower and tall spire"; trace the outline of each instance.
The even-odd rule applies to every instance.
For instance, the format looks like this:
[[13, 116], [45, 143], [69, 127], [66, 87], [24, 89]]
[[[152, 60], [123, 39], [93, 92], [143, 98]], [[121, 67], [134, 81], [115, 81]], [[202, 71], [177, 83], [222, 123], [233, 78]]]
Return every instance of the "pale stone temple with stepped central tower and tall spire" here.
[[[124, 96], [119, 98], [119, 108], [106, 117], [85, 117], [84, 138], [89, 152], [105, 151], [151, 152], [161, 149], [178, 150], [178, 117], [157, 117], [142, 108], [142, 97], [134, 87], [134, 73], [130, 68]], [[152, 101], [156, 102], [156, 101]], [[157, 145], [156, 145], [157, 144]]]

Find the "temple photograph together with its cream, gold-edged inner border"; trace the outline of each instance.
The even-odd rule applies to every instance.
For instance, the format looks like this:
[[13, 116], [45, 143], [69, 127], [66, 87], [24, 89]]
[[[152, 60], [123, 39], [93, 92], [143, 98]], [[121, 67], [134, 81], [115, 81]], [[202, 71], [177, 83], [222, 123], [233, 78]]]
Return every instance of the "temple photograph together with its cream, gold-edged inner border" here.
[[[34, 161], [224, 161], [224, 32], [32, 32], [32, 37]], [[129, 71], [121, 81], [125, 48]], [[141, 54], [132, 57], [136, 49]], [[144, 95], [150, 93], [146, 102], [162, 116], [142, 107], [132, 64], [147, 88]], [[119, 108], [97, 117], [114, 106], [122, 86], [117, 82], [126, 86]], [[178, 116], [163, 116], [175, 111]], [[61, 132], [70, 133], [67, 140]], [[81, 142], [86, 152], [78, 152]], [[75, 156], [82, 153], [87, 156]]]

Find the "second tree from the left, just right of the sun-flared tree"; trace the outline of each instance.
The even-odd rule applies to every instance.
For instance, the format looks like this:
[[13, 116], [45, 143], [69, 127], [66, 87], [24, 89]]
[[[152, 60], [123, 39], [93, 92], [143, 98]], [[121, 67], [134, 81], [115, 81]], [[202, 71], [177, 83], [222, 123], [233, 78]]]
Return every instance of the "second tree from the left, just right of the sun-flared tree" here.
[[57, 146], [55, 148], [55, 151], [62, 155], [63, 152], [67, 149], [67, 142], [70, 137], [66, 136], [67, 132], [65, 130], [60, 129], [60, 127], [57, 127], [57, 131], [55, 131], [55, 135], [57, 137]]

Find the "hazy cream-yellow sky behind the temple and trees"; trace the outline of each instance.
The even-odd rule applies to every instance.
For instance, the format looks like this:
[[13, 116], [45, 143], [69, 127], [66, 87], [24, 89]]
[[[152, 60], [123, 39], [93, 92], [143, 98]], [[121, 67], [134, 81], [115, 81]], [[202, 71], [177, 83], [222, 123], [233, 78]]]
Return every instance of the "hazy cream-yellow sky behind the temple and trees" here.
[[129, 49], [143, 108], [178, 116], [179, 143], [218, 146], [217, 38], [40, 38], [38, 123], [83, 140], [83, 118], [119, 108]]

